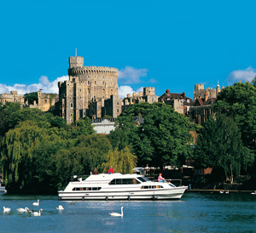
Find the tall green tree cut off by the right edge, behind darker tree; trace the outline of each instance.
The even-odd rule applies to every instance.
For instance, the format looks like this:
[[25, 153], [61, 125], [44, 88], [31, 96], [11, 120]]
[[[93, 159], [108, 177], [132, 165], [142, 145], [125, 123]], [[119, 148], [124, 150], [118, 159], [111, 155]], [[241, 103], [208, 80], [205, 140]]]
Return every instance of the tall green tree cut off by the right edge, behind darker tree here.
[[[236, 82], [224, 88], [218, 95], [217, 102], [212, 105], [217, 114], [224, 114], [236, 122], [241, 132], [241, 141], [251, 156], [256, 152], [256, 88], [252, 83]], [[247, 164], [256, 167], [255, 158]]]

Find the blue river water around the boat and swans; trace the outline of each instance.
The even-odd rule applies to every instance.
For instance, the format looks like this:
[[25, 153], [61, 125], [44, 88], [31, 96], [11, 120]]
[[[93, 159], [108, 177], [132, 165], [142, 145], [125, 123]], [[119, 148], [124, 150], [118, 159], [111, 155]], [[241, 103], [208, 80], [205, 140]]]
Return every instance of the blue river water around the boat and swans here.
[[[32, 202], [40, 199], [39, 207]], [[255, 232], [256, 196], [185, 193], [181, 201], [59, 202], [57, 196], [0, 195], [0, 232]], [[65, 209], [58, 211], [62, 205]], [[10, 213], [3, 213], [10, 207]], [[44, 212], [18, 213], [18, 207]], [[108, 213], [121, 213], [112, 217]]]

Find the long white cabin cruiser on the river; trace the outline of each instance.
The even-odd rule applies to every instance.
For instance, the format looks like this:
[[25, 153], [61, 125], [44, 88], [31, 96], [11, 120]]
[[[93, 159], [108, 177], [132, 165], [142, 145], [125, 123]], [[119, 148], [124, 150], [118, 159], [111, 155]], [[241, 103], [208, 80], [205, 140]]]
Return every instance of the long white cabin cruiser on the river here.
[[152, 182], [139, 174], [96, 174], [69, 182], [59, 200], [162, 200], [180, 199], [188, 186]]

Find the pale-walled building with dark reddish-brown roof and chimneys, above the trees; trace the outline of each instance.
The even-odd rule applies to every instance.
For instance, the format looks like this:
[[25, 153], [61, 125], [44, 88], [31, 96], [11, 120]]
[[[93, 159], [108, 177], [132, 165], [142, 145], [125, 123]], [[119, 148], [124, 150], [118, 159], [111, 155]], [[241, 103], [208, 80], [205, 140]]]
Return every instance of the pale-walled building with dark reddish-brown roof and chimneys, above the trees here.
[[184, 92], [182, 94], [170, 93], [169, 89], [166, 89], [166, 93], [158, 98], [158, 102], [172, 105], [175, 111], [184, 116], [188, 114], [190, 106], [194, 105], [194, 101], [187, 97]]

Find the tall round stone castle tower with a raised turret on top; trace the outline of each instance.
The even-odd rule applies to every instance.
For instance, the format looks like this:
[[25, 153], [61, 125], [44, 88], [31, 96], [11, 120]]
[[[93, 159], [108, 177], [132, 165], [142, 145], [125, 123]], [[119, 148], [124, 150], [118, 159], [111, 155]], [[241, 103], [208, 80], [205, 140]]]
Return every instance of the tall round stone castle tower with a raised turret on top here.
[[84, 58], [69, 58], [69, 80], [58, 82], [58, 115], [71, 123], [86, 116], [92, 101], [101, 101], [118, 96], [118, 69], [102, 66], [84, 66]]

